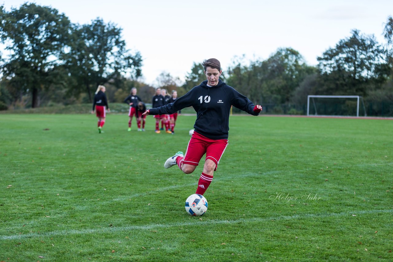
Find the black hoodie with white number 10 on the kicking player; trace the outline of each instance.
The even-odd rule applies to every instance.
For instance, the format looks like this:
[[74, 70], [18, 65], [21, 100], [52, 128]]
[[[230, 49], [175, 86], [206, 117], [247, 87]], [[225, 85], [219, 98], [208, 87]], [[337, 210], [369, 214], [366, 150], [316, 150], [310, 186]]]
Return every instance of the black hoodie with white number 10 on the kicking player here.
[[195, 86], [174, 103], [152, 108], [150, 115], [173, 114], [185, 107], [192, 106], [196, 112], [194, 129], [210, 139], [228, 139], [229, 114], [235, 106], [250, 115], [259, 115], [253, 111], [254, 104], [233, 87], [219, 80], [216, 86], [207, 86], [207, 80]]

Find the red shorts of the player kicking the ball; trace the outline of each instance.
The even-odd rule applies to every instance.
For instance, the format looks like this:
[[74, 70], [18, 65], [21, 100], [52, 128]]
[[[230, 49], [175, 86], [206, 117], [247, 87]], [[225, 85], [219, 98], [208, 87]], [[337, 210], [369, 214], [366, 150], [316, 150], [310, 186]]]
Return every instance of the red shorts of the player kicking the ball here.
[[188, 142], [187, 150], [181, 163], [197, 166], [202, 156], [206, 153], [205, 161], [206, 159], [213, 160], [216, 164], [215, 171], [227, 146], [227, 139], [213, 140], [194, 132]]

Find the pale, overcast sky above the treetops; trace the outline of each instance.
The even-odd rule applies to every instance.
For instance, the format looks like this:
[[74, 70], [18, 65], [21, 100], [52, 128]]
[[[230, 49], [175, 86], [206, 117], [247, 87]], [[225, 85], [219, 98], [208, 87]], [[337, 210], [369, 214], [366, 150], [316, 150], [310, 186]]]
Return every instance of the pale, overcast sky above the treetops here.
[[[7, 11], [26, 0], [0, 0]], [[342, 39], [374, 35], [380, 44], [392, 0], [35, 0], [64, 13], [71, 22], [89, 24], [99, 17], [123, 29], [131, 51], [143, 59], [143, 81], [156, 86], [170, 73], [181, 81], [193, 63], [220, 60], [223, 71], [237, 57], [266, 60], [278, 48], [297, 50], [309, 65]]]

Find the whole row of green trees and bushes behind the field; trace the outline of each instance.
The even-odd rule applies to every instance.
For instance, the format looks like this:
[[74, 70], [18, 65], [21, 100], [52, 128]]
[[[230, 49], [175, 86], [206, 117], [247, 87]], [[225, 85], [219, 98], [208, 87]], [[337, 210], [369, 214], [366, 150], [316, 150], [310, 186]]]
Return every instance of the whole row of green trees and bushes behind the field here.
[[[154, 95], [140, 80], [142, 55], [126, 48], [116, 24], [101, 18], [74, 24], [56, 9], [27, 3], [10, 11], [0, 6], [0, 22], [7, 52], [0, 60], [0, 109], [90, 103], [99, 84], [110, 87], [110, 102], [123, 102], [132, 87], [145, 101]], [[310, 94], [361, 95], [368, 103], [387, 104], [393, 115], [392, 16], [381, 33], [386, 44], [353, 29], [317, 58], [317, 66], [290, 47], [266, 60], [234, 57], [222, 79], [259, 104], [304, 105]], [[184, 83], [166, 72], [157, 76], [160, 88], [179, 95], [205, 79], [197, 62]]]

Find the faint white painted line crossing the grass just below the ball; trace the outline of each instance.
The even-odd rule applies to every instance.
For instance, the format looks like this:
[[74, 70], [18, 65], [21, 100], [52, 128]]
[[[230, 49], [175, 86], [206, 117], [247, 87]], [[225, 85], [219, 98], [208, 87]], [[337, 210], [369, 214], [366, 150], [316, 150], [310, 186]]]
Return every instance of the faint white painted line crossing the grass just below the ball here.
[[[337, 216], [348, 216], [349, 218], [360, 217], [361, 214], [375, 214], [375, 213], [392, 213], [393, 209], [386, 210], [363, 210], [363, 211], [351, 211], [342, 213], [327, 213], [327, 214], [302, 214], [294, 216], [275, 216], [268, 218], [240, 218], [237, 220], [203, 220], [200, 221], [195, 219], [191, 222], [180, 222], [170, 224], [147, 224], [147, 225], [131, 225], [127, 227], [110, 227], [110, 228], [91, 228], [82, 230], [61, 230], [51, 231], [42, 233], [29, 233], [26, 235], [11, 235], [11, 236], [0, 236], [0, 240], [15, 240], [23, 238], [34, 238], [34, 237], [50, 237], [50, 236], [66, 236], [66, 235], [84, 235], [94, 233], [110, 233], [110, 232], [121, 232], [130, 230], [150, 230], [154, 228], [169, 228], [169, 227], [184, 227], [184, 226], [195, 226], [195, 225], [219, 225], [219, 224], [237, 224], [237, 223], [248, 223], [248, 222], [268, 222], [271, 220], [292, 220], [292, 219], [303, 219], [303, 218], [326, 218], [326, 217], [337, 217]], [[356, 216], [353, 216], [356, 215]]]

